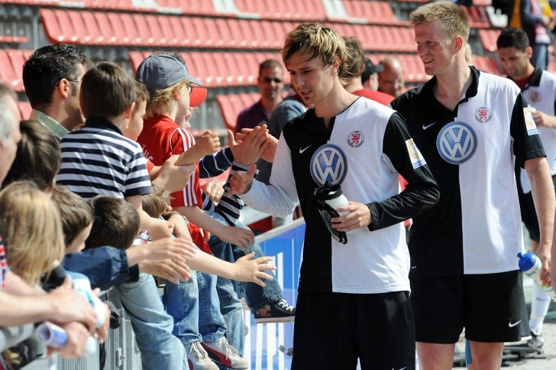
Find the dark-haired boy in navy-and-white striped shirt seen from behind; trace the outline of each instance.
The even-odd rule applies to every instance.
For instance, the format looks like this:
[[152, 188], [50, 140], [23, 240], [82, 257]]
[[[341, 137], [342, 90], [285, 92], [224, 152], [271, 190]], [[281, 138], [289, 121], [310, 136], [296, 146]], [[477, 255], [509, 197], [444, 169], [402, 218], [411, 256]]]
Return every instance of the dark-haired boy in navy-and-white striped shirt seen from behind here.
[[87, 120], [60, 142], [62, 167], [56, 177], [83, 199], [112, 195], [140, 206], [141, 196], [151, 192], [139, 144], [122, 135], [133, 111], [133, 84], [123, 69], [106, 62], [83, 77], [81, 106]]

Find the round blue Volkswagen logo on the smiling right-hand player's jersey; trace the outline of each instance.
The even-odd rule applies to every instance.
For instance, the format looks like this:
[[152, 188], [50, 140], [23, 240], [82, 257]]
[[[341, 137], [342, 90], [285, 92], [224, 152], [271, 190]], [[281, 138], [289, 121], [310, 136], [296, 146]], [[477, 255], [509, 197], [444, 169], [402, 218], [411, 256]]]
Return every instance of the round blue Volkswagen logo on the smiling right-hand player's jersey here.
[[464, 122], [450, 122], [436, 137], [436, 149], [446, 162], [461, 165], [475, 154], [477, 135], [473, 128]]

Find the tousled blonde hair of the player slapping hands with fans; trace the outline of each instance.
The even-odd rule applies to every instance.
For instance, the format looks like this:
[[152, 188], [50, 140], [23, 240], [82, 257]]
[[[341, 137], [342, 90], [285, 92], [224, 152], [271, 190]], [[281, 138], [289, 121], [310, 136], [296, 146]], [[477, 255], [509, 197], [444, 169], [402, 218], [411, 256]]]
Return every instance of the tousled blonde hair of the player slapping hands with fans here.
[[284, 49], [282, 50], [282, 61], [288, 67], [291, 59], [298, 54], [306, 54], [307, 60], [322, 58], [325, 66], [332, 65], [334, 57], [340, 59], [338, 77], [340, 81], [350, 80], [350, 66], [354, 59], [347, 53], [345, 41], [341, 35], [322, 23], [303, 23], [286, 34]]

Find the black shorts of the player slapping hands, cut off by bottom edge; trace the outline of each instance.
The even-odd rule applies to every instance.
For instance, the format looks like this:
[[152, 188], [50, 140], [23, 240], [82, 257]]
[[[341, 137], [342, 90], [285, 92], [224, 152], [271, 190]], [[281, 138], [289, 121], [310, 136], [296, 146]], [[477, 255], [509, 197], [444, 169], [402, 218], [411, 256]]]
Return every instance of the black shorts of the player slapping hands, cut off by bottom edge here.
[[409, 292], [300, 292], [292, 370], [414, 369]]

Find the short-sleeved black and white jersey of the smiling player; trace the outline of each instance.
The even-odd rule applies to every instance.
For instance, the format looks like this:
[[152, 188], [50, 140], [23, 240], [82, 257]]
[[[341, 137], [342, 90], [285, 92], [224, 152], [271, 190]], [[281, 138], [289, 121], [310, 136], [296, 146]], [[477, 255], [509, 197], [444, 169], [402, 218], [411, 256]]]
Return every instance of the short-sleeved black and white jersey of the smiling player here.
[[414, 218], [411, 274], [449, 276], [518, 269], [523, 251], [514, 160], [544, 155], [530, 108], [507, 78], [471, 67], [455, 110], [433, 93], [436, 78], [392, 102], [440, 185], [437, 205]]

